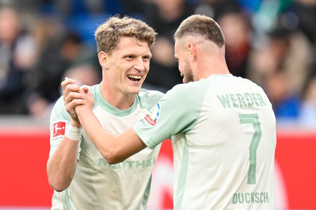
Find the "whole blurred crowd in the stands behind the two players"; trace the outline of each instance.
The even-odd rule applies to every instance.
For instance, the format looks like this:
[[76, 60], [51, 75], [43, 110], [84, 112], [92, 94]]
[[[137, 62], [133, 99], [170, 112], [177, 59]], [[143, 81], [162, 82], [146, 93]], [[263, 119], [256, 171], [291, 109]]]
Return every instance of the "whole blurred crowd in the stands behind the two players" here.
[[277, 122], [316, 128], [316, 0], [0, 0], [0, 114], [49, 120], [65, 76], [99, 83], [94, 31], [116, 14], [158, 32], [144, 88], [182, 83], [173, 34], [204, 14], [223, 30], [230, 72], [266, 91]]

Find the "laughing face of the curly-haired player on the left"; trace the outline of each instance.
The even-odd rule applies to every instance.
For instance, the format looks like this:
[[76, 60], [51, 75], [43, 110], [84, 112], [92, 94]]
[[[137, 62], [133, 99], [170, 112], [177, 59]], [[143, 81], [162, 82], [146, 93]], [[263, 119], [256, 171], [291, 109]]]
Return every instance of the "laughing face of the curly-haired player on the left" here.
[[118, 94], [137, 94], [149, 71], [151, 56], [147, 41], [121, 37], [112, 55], [106, 56], [106, 62], [100, 61], [105, 69], [105, 86]]

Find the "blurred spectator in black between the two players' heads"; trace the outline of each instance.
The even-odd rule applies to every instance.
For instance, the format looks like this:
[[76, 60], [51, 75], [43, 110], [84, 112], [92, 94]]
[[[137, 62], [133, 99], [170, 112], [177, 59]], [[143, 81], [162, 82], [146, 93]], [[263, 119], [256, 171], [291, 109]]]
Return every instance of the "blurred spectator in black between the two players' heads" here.
[[[194, 4], [187, 0], [143, 1], [142, 17], [158, 32], [150, 72], [143, 87], [166, 92], [182, 83], [177, 62], [174, 60], [173, 34], [180, 23], [194, 14]], [[131, 12], [131, 11], [130, 11]]]

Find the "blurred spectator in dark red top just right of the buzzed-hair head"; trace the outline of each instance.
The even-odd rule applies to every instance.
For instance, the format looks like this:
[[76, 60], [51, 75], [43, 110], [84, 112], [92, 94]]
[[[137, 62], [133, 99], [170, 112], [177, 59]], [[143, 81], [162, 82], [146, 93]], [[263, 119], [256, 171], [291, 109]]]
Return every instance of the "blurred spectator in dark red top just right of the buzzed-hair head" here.
[[248, 57], [252, 49], [250, 14], [237, 0], [200, 0], [195, 13], [219, 23], [225, 35], [225, 58], [231, 74], [247, 78]]

